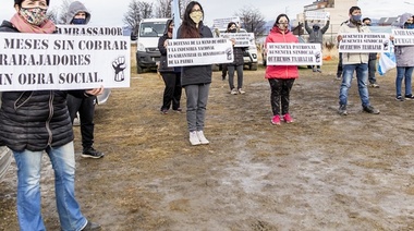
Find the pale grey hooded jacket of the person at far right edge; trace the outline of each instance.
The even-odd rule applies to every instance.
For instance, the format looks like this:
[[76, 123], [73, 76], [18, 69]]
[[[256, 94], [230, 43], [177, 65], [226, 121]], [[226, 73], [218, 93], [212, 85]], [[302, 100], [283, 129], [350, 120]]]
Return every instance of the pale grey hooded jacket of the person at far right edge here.
[[[401, 15], [399, 26], [401, 28], [404, 28], [404, 23], [411, 16], [411, 13], [404, 13], [403, 15]], [[414, 66], [414, 46], [394, 46], [394, 52], [397, 66]]]

